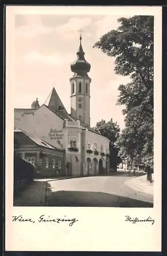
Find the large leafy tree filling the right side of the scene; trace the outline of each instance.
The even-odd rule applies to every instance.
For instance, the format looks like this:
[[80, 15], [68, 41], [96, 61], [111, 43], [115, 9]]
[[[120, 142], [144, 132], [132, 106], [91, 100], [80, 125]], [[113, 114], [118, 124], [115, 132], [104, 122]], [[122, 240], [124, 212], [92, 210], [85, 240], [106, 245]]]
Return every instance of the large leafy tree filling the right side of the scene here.
[[115, 73], [131, 79], [118, 87], [117, 104], [125, 107], [125, 129], [117, 140], [119, 154], [153, 165], [154, 17], [122, 17], [118, 23], [117, 30], [103, 35], [93, 47], [115, 57]]

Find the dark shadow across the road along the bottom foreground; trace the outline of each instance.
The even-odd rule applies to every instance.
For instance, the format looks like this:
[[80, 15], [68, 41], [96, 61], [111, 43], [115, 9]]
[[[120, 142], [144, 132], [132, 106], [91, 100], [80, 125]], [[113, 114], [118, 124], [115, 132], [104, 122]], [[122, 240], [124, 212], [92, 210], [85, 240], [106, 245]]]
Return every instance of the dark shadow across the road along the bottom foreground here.
[[47, 197], [46, 206], [68, 207], [153, 207], [152, 203], [94, 191], [56, 191]]

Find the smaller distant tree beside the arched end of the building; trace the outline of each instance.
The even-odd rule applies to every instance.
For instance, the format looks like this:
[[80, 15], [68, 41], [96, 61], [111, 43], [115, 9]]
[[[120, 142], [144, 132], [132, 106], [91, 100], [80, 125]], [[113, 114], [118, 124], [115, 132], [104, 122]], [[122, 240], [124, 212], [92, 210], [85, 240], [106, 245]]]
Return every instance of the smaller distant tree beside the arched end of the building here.
[[115, 144], [120, 134], [120, 126], [117, 122], [113, 122], [112, 118], [108, 122], [102, 119], [100, 122], [97, 122], [95, 130], [110, 140], [110, 167], [116, 168], [116, 165], [121, 162], [121, 159], [118, 156], [118, 149]]

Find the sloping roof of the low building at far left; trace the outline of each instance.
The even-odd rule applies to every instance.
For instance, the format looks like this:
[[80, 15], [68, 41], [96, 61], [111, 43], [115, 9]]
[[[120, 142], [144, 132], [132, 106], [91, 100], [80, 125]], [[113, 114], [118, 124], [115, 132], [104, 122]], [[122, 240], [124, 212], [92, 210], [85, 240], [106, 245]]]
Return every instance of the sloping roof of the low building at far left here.
[[38, 138], [37, 136], [35, 136], [32, 133], [29, 133], [27, 131], [24, 131], [22, 129], [20, 129], [19, 127], [16, 128], [14, 130], [15, 133], [23, 133], [24, 135], [26, 135], [31, 141], [33, 141], [35, 144], [37, 144], [38, 146], [43, 146], [43, 147], [47, 147], [50, 148], [51, 150], [57, 150], [57, 151], [64, 151], [62, 148], [57, 148], [53, 145], [51, 145], [50, 143], [44, 141], [43, 139]]

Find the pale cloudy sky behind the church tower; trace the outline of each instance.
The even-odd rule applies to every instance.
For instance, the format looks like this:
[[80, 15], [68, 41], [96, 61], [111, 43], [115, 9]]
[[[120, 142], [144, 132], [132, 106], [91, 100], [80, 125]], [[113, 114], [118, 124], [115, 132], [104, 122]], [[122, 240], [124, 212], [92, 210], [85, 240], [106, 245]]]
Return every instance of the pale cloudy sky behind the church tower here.
[[[31, 108], [36, 99], [45, 103], [55, 87], [70, 113], [70, 63], [79, 48], [79, 29], [85, 59], [90, 63], [91, 126], [102, 119], [124, 128], [123, 106], [116, 105], [118, 86], [129, 77], [114, 72], [114, 58], [93, 45], [102, 35], [118, 27], [116, 15], [16, 14], [14, 26], [14, 108]], [[129, 16], [124, 16], [129, 17]]]

